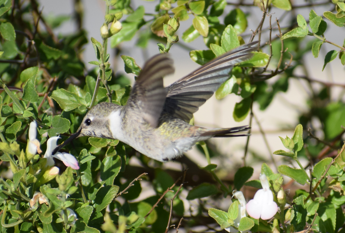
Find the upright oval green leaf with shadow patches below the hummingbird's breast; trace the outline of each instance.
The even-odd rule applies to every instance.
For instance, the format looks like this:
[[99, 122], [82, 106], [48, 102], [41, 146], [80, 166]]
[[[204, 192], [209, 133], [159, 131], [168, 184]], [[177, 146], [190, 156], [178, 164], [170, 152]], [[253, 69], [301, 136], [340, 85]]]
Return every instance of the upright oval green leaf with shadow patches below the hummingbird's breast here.
[[121, 157], [119, 155], [105, 157], [100, 168], [101, 179], [106, 181], [107, 185], [114, 184], [114, 179], [119, 174], [120, 169]]

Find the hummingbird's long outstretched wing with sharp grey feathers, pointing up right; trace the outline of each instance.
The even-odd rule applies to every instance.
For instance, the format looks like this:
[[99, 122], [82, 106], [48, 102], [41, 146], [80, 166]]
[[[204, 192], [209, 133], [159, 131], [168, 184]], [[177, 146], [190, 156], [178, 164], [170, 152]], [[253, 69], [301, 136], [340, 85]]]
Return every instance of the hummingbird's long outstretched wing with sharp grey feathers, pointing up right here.
[[240, 45], [166, 87], [164, 111], [189, 122], [199, 106], [229, 78], [235, 64], [252, 57], [258, 41]]

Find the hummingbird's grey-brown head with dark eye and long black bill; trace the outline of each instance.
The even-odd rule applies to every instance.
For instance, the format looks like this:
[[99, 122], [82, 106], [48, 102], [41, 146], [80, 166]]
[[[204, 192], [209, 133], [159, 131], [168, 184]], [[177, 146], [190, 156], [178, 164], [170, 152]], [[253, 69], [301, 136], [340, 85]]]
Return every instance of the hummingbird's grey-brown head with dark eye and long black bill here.
[[66, 141], [55, 148], [53, 154], [78, 137], [91, 136], [97, 138], [112, 138], [108, 117], [111, 112], [119, 111], [122, 107], [123, 106], [108, 102], [101, 102], [95, 105], [88, 113], [86, 113], [77, 132], [72, 134]]

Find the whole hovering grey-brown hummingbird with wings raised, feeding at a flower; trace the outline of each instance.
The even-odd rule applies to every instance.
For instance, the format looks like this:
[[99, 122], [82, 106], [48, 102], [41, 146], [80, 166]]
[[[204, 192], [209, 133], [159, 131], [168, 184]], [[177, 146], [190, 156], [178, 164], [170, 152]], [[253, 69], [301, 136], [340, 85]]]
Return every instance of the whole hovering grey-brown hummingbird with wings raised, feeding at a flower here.
[[101, 102], [85, 115], [77, 132], [56, 153], [81, 136], [117, 139], [152, 159], [166, 162], [183, 155], [195, 143], [212, 137], [236, 137], [248, 126], [206, 129], [189, 124], [193, 113], [229, 78], [239, 62], [253, 56], [258, 41], [240, 45], [164, 87], [163, 77], [174, 73], [167, 54], [150, 58], [131, 90], [127, 104]]

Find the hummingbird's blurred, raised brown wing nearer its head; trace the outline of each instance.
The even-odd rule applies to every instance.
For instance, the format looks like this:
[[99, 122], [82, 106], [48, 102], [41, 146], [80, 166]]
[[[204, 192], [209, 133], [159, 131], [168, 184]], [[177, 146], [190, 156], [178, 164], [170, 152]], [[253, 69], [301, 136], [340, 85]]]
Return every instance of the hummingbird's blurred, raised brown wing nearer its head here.
[[174, 62], [167, 54], [158, 54], [148, 60], [140, 72], [125, 106], [126, 112], [142, 114], [151, 127], [157, 127], [162, 113], [167, 90], [163, 76], [174, 73]]

